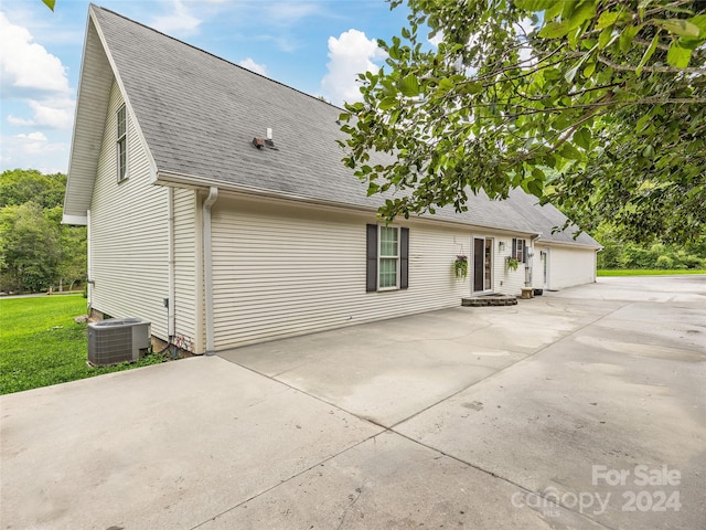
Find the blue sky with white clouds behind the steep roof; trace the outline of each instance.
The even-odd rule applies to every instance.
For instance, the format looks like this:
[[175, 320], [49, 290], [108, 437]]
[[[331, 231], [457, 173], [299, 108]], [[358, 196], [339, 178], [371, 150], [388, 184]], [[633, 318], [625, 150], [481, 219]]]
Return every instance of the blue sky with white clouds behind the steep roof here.
[[[381, 65], [384, 0], [103, 0], [99, 6], [334, 104]], [[88, 1], [0, 0], [0, 171], [66, 172]]]

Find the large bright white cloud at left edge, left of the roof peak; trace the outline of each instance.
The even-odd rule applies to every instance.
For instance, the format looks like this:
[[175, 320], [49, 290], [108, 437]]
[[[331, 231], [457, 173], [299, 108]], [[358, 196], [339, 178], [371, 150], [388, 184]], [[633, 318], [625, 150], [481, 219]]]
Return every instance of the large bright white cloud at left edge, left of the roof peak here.
[[0, 78], [4, 97], [38, 98], [71, 94], [66, 67], [31, 33], [0, 12]]

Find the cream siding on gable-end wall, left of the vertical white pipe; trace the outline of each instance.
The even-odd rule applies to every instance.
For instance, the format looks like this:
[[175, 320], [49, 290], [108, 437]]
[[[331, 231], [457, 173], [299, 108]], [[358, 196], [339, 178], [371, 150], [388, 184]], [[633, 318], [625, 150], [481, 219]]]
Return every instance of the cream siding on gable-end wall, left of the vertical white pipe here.
[[117, 112], [122, 104], [114, 82], [90, 205], [92, 306], [113, 317], [149, 320], [152, 335], [167, 339], [167, 190], [150, 183], [149, 160], [129, 113], [130, 178], [116, 182]]

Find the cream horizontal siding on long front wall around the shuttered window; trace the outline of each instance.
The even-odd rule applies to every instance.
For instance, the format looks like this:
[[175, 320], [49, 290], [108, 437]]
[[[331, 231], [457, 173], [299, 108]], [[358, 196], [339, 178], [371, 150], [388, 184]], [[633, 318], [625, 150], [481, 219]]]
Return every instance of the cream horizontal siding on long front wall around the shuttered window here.
[[213, 206], [216, 350], [443, 307], [469, 294], [453, 275], [468, 232], [409, 223], [409, 287], [366, 293], [372, 214], [246, 202]]

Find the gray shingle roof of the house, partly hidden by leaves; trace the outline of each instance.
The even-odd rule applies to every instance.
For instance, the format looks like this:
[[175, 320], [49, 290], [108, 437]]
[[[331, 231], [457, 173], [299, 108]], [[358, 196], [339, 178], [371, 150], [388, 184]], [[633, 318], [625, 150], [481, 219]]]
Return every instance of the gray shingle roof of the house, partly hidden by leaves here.
[[[224, 187], [246, 186], [311, 201], [376, 209], [366, 186], [335, 142], [341, 109], [164, 35], [92, 7], [158, 173], [190, 176]], [[274, 131], [278, 150], [256, 149]], [[477, 226], [542, 233], [544, 240], [598, 246], [581, 234], [552, 234], [565, 216], [514, 190], [506, 201], [471, 197], [469, 211], [435, 218]]]

